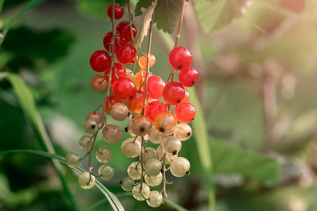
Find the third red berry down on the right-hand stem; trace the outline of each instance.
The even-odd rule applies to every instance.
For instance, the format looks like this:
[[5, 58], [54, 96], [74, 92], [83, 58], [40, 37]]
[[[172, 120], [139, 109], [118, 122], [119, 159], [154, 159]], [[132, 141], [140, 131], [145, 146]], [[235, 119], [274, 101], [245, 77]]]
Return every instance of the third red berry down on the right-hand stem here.
[[182, 84], [171, 81], [166, 84], [162, 91], [163, 99], [170, 105], [177, 105], [185, 97], [185, 89]]

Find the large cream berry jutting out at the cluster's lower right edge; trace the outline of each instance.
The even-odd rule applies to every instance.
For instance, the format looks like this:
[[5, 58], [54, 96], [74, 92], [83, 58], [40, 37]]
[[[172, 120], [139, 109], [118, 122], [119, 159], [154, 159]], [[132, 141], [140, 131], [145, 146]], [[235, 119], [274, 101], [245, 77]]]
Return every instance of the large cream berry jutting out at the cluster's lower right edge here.
[[185, 174], [189, 175], [190, 163], [185, 157], [175, 157], [170, 165], [172, 175], [182, 177]]

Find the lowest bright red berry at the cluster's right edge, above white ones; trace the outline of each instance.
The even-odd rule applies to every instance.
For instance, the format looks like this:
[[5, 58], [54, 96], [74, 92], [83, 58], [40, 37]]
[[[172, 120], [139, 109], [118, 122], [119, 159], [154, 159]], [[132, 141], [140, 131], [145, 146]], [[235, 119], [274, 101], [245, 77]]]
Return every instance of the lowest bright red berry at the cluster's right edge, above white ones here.
[[189, 102], [181, 102], [175, 108], [174, 115], [176, 116], [178, 122], [187, 124], [195, 118], [196, 109]]

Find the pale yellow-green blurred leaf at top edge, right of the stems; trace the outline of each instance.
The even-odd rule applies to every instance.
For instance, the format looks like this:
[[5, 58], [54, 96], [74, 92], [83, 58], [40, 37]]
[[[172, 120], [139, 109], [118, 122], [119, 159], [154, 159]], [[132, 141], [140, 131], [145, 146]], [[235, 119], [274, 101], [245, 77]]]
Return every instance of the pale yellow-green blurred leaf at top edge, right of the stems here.
[[241, 16], [238, 6], [238, 4], [241, 4], [240, 2], [221, 0], [213, 3], [193, 0], [193, 5], [197, 20], [205, 33], [212, 33], [228, 26], [235, 18]]

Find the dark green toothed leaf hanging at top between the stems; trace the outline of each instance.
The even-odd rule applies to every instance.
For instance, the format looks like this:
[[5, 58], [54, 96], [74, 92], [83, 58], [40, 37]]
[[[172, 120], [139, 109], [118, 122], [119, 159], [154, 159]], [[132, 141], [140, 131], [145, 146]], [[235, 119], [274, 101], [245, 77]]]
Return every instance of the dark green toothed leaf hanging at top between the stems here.
[[[142, 15], [141, 8], [151, 6], [151, 0], [138, 1], [135, 8], [135, 16]], [[160, 0], [157, 1], [155, 7], [154, 21], [157, 29], [162, 29], [164, 32], [172, 33], [176, 28], [180, 16], [182, 0]]]

